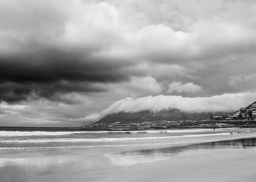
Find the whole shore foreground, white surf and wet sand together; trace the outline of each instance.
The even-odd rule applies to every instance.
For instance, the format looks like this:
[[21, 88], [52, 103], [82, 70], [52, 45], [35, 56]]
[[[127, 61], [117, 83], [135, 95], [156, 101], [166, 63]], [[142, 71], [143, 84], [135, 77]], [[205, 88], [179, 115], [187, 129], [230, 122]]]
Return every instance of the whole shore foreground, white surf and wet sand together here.
[[255, 181], [255, 129], [0, 138], [1, 181]]

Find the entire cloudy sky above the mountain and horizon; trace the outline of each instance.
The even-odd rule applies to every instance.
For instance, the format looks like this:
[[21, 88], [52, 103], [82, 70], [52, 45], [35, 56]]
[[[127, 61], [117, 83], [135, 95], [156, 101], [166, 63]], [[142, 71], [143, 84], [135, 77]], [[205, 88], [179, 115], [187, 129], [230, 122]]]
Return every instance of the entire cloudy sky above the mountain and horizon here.
[[0, 0], [0, 125], [256, 101], [256, 2]]

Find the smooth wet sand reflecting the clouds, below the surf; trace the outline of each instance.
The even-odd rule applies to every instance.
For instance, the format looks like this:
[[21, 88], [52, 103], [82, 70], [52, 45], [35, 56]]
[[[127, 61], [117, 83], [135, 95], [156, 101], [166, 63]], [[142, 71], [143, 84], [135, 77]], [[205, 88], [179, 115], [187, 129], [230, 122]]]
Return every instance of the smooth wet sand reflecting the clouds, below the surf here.
[[255, 181], [256, 138], [0, 151], [0, 181]]

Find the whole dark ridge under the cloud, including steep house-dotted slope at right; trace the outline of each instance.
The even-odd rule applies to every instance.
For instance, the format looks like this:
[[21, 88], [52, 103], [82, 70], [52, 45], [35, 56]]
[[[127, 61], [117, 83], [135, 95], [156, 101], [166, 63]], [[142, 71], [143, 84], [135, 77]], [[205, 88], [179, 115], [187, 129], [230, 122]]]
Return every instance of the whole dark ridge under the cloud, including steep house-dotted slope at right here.
[[[231, 113], [231, 114], [229, 114]], [[214, 118], [256, 118], [256, 101], [234, 112], [184, 112], [179, 109], [163, 109], [159, 111], [141, 110], [139, 112], [110, 113], [95, 123], [142, 123], [155, 121], [211, 120]]]

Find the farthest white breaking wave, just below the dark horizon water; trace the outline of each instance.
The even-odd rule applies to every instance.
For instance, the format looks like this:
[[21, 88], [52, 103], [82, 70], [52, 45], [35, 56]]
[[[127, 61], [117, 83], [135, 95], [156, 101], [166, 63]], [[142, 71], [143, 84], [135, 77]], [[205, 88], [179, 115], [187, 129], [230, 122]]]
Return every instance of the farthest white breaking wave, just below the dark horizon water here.
[[138, 130], [138, 131], [0, 131], [0, 136], [57, 136], [80, 133], [196, 133], [208, 132], [223, 129], [239, 128], [219, 128], [219, 129], [161, 129], [161, 130]]

